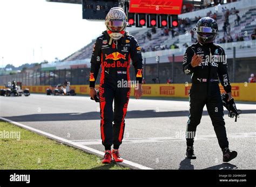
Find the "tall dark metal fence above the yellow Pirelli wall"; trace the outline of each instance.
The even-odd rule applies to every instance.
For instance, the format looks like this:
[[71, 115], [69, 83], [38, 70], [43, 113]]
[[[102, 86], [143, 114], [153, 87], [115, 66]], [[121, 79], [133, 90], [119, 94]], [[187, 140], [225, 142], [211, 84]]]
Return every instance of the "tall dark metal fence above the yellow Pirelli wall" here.
[[[251, 59], [228, 59], [228, 74], [231, 82], [246, 82], [252, 73], [256, 73], [256, 58]], [[99, 75], [97, 82], [99, 83]], [[190, 76], [183, 73], [181, 62], [151, 63], [144, 64], [143, 75], [146, 83], [154, 83], [159, 77], [159, 83], [166, 83], [171, 78], [173, 83], [190, 82]], [[34, 71], [32, 73], [18, 73], [14, 75], [0, 76], [0, 85], [8, 82], [22, 82], [23, 85], [56, 85], [68, 80], [72, 85], [89, 84], [90, 68], [58, 69], [46, 71]], [[135, 79], [134, 68], [130, 68], [131, 80]]]

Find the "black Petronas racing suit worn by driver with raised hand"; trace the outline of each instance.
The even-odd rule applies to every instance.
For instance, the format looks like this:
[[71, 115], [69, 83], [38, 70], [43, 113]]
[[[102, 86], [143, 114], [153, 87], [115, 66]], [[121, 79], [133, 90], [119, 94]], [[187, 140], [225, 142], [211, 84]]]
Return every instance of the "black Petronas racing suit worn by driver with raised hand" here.
[[[191, 66], [193, 55], [203, 57], [203, 62], [197, 67]], [[210, 61], [212, 59], [212, 61]], [[200, 124], [204, 105], [212, 120], [221, 149], [228, 147], [226, 135], [223, 103], [220, 96], [219, 80], [224, 90], [231, 92], [231, 85], [227, 74], [227, 60], [224, 49], [216, 44], [202, 45], [199, 42], [186, 49], [183, 57], [183, 71], [192, 75], [190, 89], [190, 115], [188, 116], [186, 141], [187, 146], [193, 146], [197, 125]]]

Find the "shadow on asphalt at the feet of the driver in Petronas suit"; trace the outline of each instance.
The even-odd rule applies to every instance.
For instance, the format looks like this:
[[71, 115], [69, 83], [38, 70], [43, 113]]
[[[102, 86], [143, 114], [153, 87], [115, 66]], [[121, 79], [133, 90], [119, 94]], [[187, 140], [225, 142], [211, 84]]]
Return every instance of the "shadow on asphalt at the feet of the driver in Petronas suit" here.
[[[179, 170], [181, 169], [194, 169], [194, 166], [191, 164], [191, 159], [185, 158], [183, 161], [179, 164]], [[222, 163], [216, 166], [211, 166], [205, 169], [215, 169], [215, 170], [233, 170], [238, 169], [237, 166], [231, 164], [231, 163]]]

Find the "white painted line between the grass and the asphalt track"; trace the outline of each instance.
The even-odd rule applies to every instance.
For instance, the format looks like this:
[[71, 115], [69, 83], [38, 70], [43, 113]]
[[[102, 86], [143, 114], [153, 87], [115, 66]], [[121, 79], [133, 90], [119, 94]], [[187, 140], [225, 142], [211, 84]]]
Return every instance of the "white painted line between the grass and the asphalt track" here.
[[[12, 121], [12, 120], [9, 120], [9, 119], [3, 118], [3, 117], [0, 117], [0, 119], [2, 119], [3, 121], [8, 121], [9, 123], [14, 124], [16, 126], [25, 128], [26, 130], [35, 132], [35, 133], [40, 134], [40, 135], [44, 135], [44, 136], [46, 136], [46, 137], [48, 137], [52, 140], [56, 140], [58, 142], [66, 144], [68, 146], [72, 146], [72, 147], [76, 147], [78, 149], [82, 149], [85, 152], [97, 154], [99, 156], [104, 156], [104, 154], [105, 154], [104, 152], [100, 152], [99, 150], [96, 150], [96, 149], [93, 149], [93, 148], [90, 148], [90, 147], [87, 147], [87, 146], [84, 146], [84, 145], [80, 145], [79, 143], [72, 142], [72, 141], [64, 139], [64, 138], [60, 138], [59, 136], [56, 136], [56, 135], [53, 135], [53, 134], [50, 134], [50, 133], [46, 133], [46, 132], [41, 131], [41, 130], [37, 130], [36, 128], [30, 127], [30, 126], [27, 126], [27, 125], [23, 125], [23, 124], [18, 123], [16, 121]], [[148, 170], [152, 169], [152, 168], [149, 168], [149, 167], [146, 167], [146, 166], [143, 166], [141, 164], [134, 163], [134, 162], [131, 162], [131, 161], [128, 161], [128, 160], [124, 160], [124, 162], [122, 162], [122, 163], [124, 163], [124, 164], [126, 164], [126, 165], [128, 165], [132, 168], [135, 168], [135, 169], [148, 169]], [[120, 163], [120, 164], [122, 165], [122, 163]]]

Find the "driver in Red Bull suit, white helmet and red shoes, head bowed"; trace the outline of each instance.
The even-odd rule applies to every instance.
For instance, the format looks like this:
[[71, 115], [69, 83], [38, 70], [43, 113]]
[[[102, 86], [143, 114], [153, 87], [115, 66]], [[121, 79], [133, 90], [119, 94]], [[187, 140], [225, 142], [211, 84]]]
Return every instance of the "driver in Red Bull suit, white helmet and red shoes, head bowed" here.
[[[100, 132], [105, 147], [102, 163], [110, 163], [112, 156], [115, 162], [123, 162], [118, 149], [124, 136], [124, 118], [130, 98], [130, 59], [136, 74], [134, 95], [138, 99], [142, 96], [142, 53], [137, 40], [125, 31], [127, 17], [122, 8], [114, 7], [110, 9], [105, 24], [106, 31], [97, 38], [93, 46], [90, 96], [95, 98], [97, 95], [95, 81], [101, 66], [99, 88]], [[113, 101], [114, 112], [112, 109]]]

